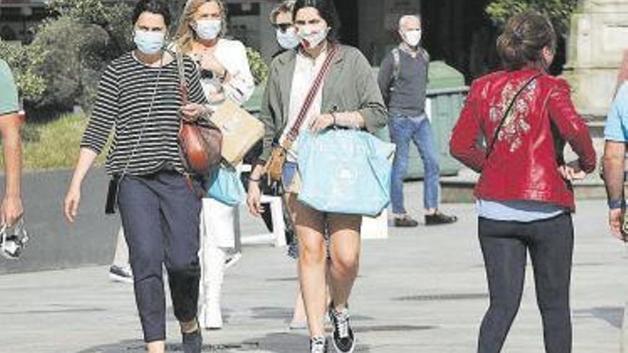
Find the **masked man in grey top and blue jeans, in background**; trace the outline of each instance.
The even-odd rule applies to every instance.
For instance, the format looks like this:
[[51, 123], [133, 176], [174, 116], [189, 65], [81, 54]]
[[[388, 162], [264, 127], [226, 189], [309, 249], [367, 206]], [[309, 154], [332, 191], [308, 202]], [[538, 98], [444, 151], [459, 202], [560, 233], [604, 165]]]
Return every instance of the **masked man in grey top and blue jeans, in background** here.
[[425, 170], [425, 225], [452, 223], [457, 220], [455, 216], [445, 215], [438, 210], [440, 167], [430, 120], [425, 115], [430, 56], [420, 46], [420, 17], [402, 16], [399, 34], [402, 43], [384, 58], [378, 76], [380, 91], [390, 114], [390, 140], [397, 145], [390, 190], [395, 226], [418, 225], [416, 220], [407, 215], [403, 204], [403, 178], [407, 172], [410, 140], [417, 146]]

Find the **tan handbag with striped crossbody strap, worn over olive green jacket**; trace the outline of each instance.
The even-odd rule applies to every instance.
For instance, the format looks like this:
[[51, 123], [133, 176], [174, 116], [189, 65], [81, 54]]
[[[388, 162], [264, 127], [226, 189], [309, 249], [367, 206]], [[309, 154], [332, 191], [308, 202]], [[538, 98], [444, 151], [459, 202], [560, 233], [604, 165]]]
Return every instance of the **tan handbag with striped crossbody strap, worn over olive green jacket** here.
[[316, 76], [312, 87], [310, 87], [310, 91], [308, 91], [308, 95], [305, 96], [305, 101], [303, 101], [303, 106], [299, 111], [297, 119], [288, 131], [288, 134], [285, 136], [281, 143], [273, 148], [273, 152], [270, 154], [270, 158], [268, 158], [268, 162], [266, 162], [265, 169], [268, 174], [269, 181], [272, 182], [280, 182], [281, 175], [283, 174], [283, 165], [285, 164], [285, 158], [288, 153], [288, 150], [292, 147], [292, 144], [297, 139], [299, 135], [299, 131], [303, 123], [305, 122], [305, 118], [308, 115], [308, 111], [310, 110], [310, 106], [314, 103], [314, 98], [316, 93], [323, 86], [323, 81], [325, 77], [329, 73], [329, 68], [331, 66], [331, 62], [335, 57], [335, 53], [338, 51], [338, 47], [332, 45], [329, 49], [329, 53], [325, 61], [323, 62], [323, 66], [318, 71], [318, 75]]

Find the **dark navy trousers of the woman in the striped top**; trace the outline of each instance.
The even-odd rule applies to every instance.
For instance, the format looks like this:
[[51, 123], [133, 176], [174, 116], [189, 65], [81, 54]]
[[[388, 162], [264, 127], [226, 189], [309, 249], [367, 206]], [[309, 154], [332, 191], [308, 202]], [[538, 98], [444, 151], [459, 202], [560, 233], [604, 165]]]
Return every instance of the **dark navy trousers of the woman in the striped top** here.
[[190, 189], [186, 177], [161, 171], [123, 178], [118, 206], [144, 341], [163, 341], [166, 339], [164, 264], [175, 317], [180, 322], [196, 317], [201, 277], [198, 262], [201, 199]]

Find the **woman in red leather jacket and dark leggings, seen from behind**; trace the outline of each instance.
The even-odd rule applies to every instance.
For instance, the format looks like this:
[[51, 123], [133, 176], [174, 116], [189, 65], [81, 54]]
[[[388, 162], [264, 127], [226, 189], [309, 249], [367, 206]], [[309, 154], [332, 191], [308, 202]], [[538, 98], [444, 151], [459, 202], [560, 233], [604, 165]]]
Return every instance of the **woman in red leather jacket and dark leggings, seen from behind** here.
[[[571, 181], [595, 169], [595, 151], [569, 86], [547, 74], [555, 46], [556, 34], [544, 16], [528, 12], [510, 19], [497, 39], [504, 70], [472, 83], [452, 133], [451, 154], [481, 173], [475, 197], [490, 307], [478, 353], [502, 349], [520, 305], [528, 251], [545, 350], [572, 349]], [[578, 160], [564, 163], [565, 143]]]

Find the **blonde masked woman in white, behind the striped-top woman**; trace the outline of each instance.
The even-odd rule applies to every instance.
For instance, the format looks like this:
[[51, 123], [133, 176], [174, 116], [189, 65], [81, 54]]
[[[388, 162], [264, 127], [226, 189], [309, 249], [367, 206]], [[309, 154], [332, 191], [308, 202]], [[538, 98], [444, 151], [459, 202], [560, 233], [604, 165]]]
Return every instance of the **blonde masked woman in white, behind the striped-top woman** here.
[[[183, 11], [176, 50], [193, 58], [201, 73], [201, 86], [215, 108], [225, 100], [248, 101], [255, 83], [240, 41], [223, 38], [227, 29], [227, 7], [221, 0], [190, 0]], [[199, 322], [206, 329], [223, 327], [221, 288], [227, 251], [235, 247], [233, 219], [236, 212], [216, 200], [203, 199], [201, 220], [201, 295]], [[227, 220], [228, 225], [224, 225]]]

